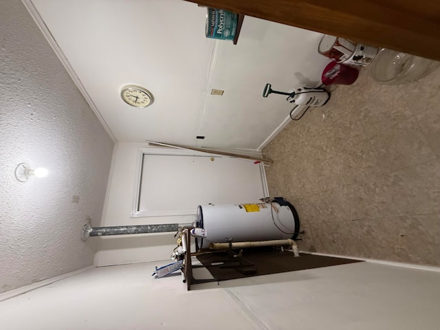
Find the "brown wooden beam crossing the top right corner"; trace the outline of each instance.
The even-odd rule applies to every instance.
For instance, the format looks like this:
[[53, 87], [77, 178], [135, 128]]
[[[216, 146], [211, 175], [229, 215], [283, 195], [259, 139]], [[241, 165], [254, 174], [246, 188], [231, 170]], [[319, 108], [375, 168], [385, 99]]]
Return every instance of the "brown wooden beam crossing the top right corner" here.
[[439, 1], [186, 1], [440, 61]]

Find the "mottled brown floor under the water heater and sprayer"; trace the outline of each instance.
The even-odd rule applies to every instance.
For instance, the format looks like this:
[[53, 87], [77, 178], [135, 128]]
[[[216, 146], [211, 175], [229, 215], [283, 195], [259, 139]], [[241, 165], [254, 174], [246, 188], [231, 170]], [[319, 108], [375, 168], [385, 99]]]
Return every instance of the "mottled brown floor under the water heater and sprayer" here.
[[367, 67], [331, 88], [263, 151], [271, 196], [298, 210], [300, 248], [440, 265], [440, 69], [388, 86]]

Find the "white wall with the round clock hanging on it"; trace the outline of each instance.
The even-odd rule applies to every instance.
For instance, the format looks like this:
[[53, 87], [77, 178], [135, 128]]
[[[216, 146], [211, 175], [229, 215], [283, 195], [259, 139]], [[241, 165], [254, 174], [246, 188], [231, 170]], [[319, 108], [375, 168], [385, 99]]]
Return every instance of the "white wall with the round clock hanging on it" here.
[[[316, 83], [328, 63], [316, 50], [322, 34], [252, 17], [238, 45], [207, 39], [206, 8], [186, 1], [29, 1], [118, 142], [256, 149], [290, 109], [282, 96], [261, 96], [265, 83]], [[125, 104], [126, 84], [155, 102]]]

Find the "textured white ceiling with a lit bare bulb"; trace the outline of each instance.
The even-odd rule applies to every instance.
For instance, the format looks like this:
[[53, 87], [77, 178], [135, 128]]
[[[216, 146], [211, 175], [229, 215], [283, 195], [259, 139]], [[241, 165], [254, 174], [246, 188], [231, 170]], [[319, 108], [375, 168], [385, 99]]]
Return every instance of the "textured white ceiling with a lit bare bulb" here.
[[[21, 1], [0, 2], [0, 292], [91, 265], [113, 142]], [[21, 183], [17, 164], [43, 166]], [[76, 196], [79, 201], [76, 203]]]

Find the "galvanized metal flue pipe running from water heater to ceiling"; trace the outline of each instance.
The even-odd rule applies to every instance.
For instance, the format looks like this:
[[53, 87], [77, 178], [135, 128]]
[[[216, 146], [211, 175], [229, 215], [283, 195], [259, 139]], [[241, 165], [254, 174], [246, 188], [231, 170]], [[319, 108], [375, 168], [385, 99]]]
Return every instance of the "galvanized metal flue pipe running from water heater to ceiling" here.
[[152, 232], [177, 232], [179, 223], [163, 225], [115, 225], [113, 227], [91, 227], [89, 223], [83, 225], [81, 239], [87, 241], [89, 236], [150, 234]]

